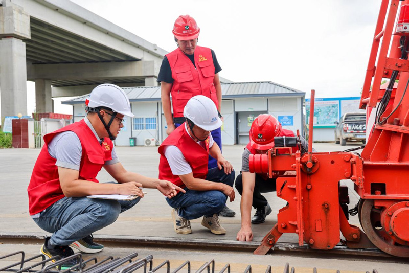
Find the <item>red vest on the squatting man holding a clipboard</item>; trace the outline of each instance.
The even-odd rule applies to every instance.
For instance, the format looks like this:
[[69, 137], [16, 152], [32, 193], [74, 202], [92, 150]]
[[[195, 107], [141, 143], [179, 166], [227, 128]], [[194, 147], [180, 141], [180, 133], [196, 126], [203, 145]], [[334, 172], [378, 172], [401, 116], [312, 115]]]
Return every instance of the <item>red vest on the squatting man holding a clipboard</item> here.
[[64, 197], [58, 176], [56, 159], [48, 153], [48, 144], [57, 133], [73, 131], [78, 135], [82, 147], [82, 156], [78, 179], [93, 181], [105, 162], [112, 159], [112, 141], [105, 138], [102, 145], [84, 120], [44, 135], [44, 146], [34, 165], [28, 187], [30, 215], [39, 213]]

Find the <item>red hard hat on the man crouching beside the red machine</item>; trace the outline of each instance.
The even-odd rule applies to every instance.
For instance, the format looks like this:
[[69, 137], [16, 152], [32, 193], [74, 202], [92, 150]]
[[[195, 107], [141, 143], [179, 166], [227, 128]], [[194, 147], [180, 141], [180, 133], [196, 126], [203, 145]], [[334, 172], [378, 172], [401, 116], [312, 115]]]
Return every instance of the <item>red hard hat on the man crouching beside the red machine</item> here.
[[280, 133], [281, 123], [275, 117], [259, 115], [250, 128], [250, 145], [257, 150], [269, 150], [274, 147], [274, 137]]

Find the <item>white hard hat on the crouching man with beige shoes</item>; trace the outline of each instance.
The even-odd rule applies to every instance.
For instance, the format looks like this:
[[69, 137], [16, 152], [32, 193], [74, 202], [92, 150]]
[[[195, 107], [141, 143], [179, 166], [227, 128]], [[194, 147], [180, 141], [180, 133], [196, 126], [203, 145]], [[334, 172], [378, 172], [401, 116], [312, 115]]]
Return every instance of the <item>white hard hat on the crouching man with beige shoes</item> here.
[[216, 130], [223, 124], [214, 102], [202, 95], [194, 96], [188, 101], [183, 116], [206, 131]]

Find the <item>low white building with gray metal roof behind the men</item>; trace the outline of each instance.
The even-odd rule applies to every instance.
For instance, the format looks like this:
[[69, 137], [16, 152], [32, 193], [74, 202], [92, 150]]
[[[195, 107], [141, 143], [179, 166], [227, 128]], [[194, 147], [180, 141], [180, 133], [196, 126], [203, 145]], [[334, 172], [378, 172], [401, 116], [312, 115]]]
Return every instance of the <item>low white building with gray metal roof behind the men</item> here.
[[[246, 144], [254, 118], [270, 113], [284, 128], [303, 133], [302, 105], [305, 92], [274, 82], [221, 83], [222, 143]], [[166, 138], [166, 121], [161, 105], [161, 86], [124, 87], [135, 117], [128, 119], [116, 140], [116, 145], [129, 145], [129, 138], [137, 138], [137, 145], [160, 144]], [[85, 116], [84, 95], [63, 104], [73, 105], [74, 121]]]

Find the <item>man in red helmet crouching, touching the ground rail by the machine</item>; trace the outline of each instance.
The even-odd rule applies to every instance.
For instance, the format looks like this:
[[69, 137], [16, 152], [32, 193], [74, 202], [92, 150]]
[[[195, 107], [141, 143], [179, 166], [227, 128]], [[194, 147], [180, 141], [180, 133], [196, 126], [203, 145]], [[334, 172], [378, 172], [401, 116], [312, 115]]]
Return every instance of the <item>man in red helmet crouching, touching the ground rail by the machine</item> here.
[[[251, 223], [263, 223], [265, 217], [271, 213], [271, 207], [261, 193], [276, 191], [276, 178], [268, 178], [264, 173], [250, 173], [248, 158], [250, 154], [266, 153], [273, 148], [274, 137], [294, 137], [294, 133], [283, 129], [275, 117], [267, 114], [259, 115], [252, 123], [250, 142], [242, 155], [241, 174], [235, 181], [236, 189], [241, 195], [241, 229], [236, 238], [239, 241], [252, 241]], [[307, 141], [302, 137], [300, 139], [302, 146], [308, 148]], [[293, 172], [282, 175], [293, 175]], [[256, 209], [256, 214], [250, 220], [252, 206]]]

